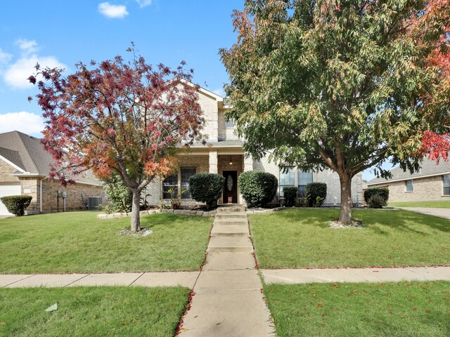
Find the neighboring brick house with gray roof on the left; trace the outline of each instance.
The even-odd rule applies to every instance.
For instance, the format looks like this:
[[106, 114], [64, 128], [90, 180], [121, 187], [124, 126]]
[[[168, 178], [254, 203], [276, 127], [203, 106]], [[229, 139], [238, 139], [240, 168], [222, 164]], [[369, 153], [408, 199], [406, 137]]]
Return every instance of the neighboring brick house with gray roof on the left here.
[[[67, 187], [51, 182], [52, 161], [39, 139], [18, 131], [0, 133], [0, 197], [31, 195], [27, 214], [63, 211], [63, 192], [66, 211], [86, 209], [89, 197], [102, 197], [101, 183], [86, 175], [77, 176], [76, 183]], [[0, 201], [0, 215], [8, 214]]]

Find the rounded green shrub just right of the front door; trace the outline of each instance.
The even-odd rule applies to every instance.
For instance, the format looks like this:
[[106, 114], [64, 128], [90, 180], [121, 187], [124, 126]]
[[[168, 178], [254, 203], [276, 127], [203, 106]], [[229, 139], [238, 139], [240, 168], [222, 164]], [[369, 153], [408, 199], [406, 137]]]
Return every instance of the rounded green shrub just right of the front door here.
[[249, 206], [264, 207], [276, 195], [278, 179], [271, 173], [247, 171], [238, 178], [240, 193]]

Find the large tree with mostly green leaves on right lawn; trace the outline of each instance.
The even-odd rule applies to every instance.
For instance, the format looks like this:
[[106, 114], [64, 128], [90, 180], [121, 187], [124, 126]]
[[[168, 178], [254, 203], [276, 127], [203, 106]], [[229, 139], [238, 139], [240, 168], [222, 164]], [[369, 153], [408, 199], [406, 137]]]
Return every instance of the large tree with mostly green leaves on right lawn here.
[[233, 13], [236, 44], [220, 51], [245, 150], [338, 173], [339, 221], [351, 223], [357, 173], [388, 176], [387, 158], [419, 168], [413, 154], [446, 78], [429, 62], [449, 47], [450, 6], [436, 2], [246, 0]]

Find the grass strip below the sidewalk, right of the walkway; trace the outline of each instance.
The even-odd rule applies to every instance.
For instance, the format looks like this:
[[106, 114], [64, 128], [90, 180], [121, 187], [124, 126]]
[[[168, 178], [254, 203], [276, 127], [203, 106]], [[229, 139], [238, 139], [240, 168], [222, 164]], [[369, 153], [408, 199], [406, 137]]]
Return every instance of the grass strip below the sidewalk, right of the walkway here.
[[278, 337], [447, 337], [450, 282], [264, 287]]

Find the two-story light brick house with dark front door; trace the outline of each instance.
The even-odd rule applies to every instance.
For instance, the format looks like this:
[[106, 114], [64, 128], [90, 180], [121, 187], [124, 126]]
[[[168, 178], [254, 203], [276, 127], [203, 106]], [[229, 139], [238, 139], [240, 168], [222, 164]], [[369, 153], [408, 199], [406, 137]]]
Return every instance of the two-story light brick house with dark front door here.
[[[328, 194], [325, 204], [338, 206], [340, 204], [340, 180], [338, 174], [325, 170], [321, 172], [303, 172], [296, 167], [287, 172], [279, 169], [273, 162], [269, 163], [267, 157], [261, 161], [255, 161], [246, 157], [243, 142], [236, 136], [235, 126], [228, 121], [225, 112], [229, 110], [229, 103], [205, 88], [199, 89], [199, 103], [206, 120], [203, 133], [207, 135], [208, 145], [196, 144], [186, 151], [179, 153], [178, 171], [165, 180], [153, 180], [146, 190], [148, 204], [158, 205], [167, 203], [172, 197], [170, 191], [176, 197], [177, 191], [186, 191], [181, 194], [184, 204], [195, 204], [188, 191], [189, 177], [194, 173], [209, 172], [219, 173], [226, 178], [226, 187], [219, 203], [242, 204], [243, 198], [238, 187], [238, 176], [245, 171], [266, 171], [278, 178], [277, 200], [283, 197], [283, 187], [296, 186], [300, 193], [304, 192], [307, 183], [326, 183]], [[229, 183], [228, 183], [229, 182]], [[352, 199], [355, 204], [362, 202], [362, 174], [359, 173], [352, 181]], [[276, 201], [277, 201], [276, 200]]]

